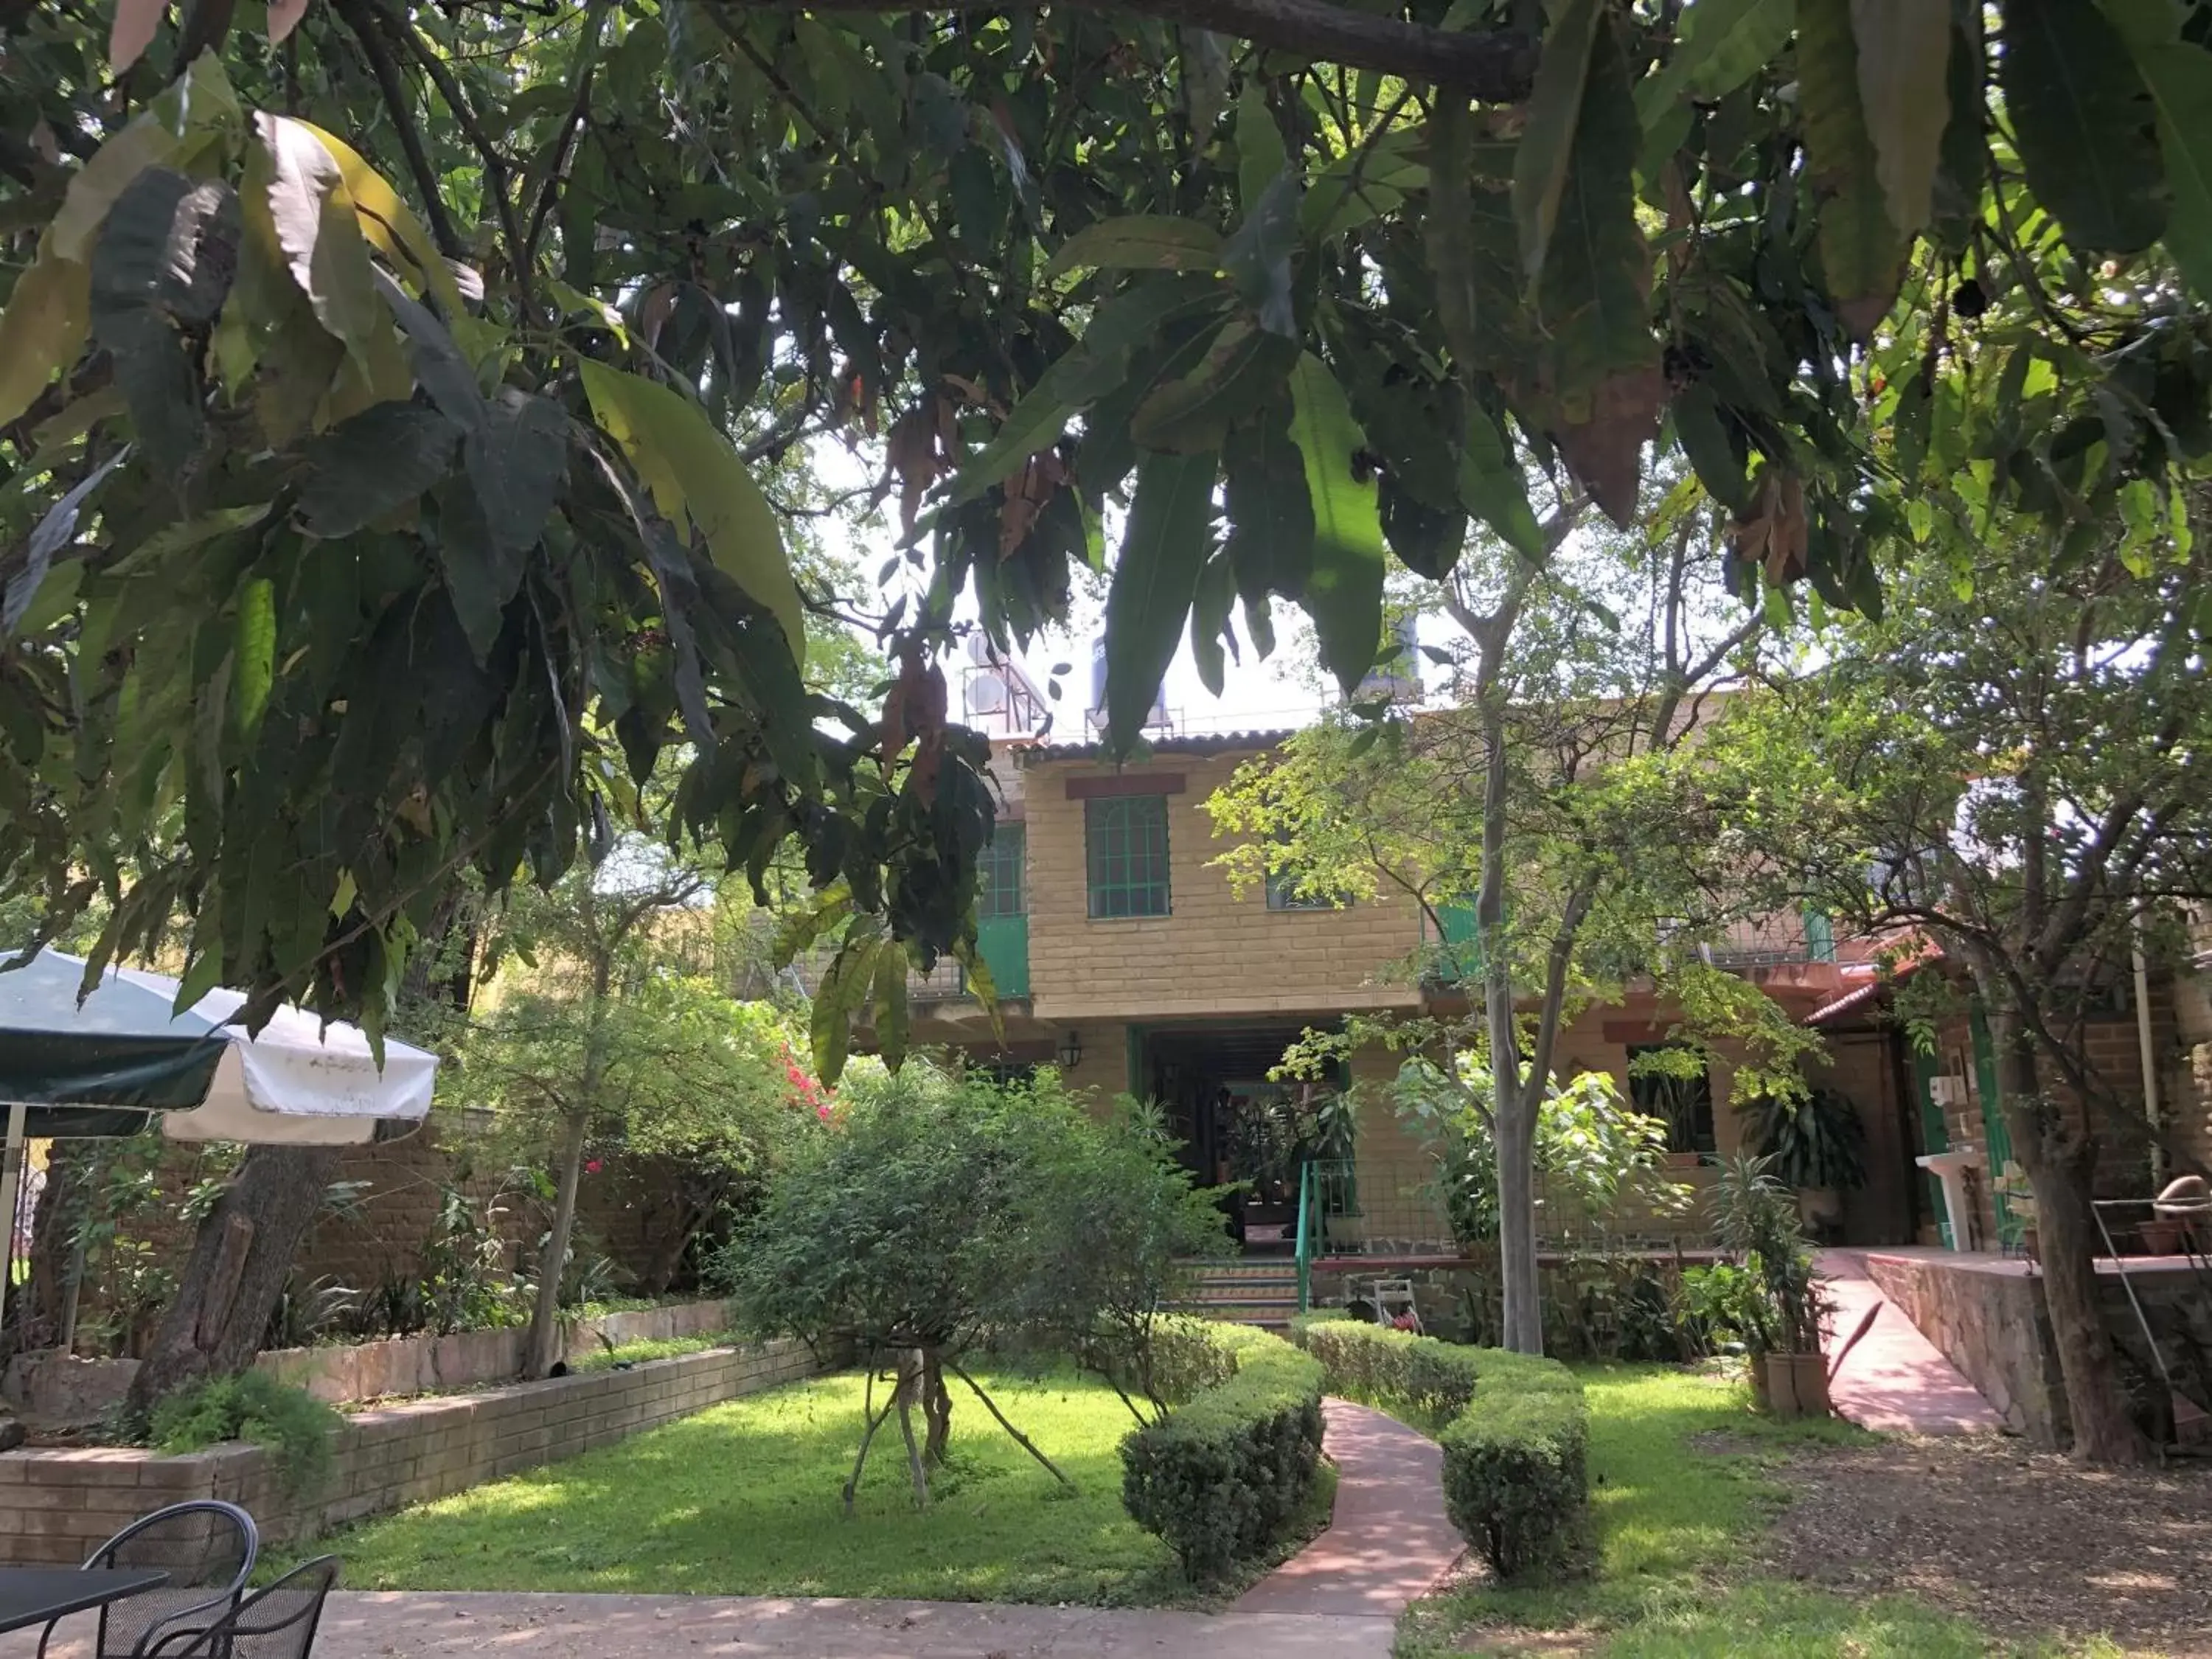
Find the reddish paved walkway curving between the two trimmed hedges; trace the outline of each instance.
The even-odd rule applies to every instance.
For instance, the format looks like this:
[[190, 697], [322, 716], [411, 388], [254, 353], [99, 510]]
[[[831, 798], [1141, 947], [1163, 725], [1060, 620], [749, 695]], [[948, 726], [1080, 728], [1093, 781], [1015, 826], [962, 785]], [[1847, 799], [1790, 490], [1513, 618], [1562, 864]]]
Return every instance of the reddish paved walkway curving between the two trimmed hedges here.
[[1254, 1584], [1237, 1613], [1396, 1619], [1467, 1548], [1444, 1515], [1444, 1453], [1365, 1405], [1327, 1400], [1323, 1411], [1336, 1515], [1329, 1531]]

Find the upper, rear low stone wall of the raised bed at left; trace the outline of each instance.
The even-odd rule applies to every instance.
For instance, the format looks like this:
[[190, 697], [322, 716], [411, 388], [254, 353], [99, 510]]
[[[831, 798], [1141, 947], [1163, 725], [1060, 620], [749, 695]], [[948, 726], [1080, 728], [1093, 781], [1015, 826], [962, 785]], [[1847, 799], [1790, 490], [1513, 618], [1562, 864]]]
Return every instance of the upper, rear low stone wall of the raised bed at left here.
[[[604, 1345], [710, 1336], [730, 1327], [730, 1303], [668, 1303], [626, 1314], [580, 1318], [566, 1332], [571, 1360]], [[498, 1332], [453, 1332], [451, 1336], [394, 1336], [383, 1343], [334, 1343], [330, 1347], [281, 1347], [261, 1354], [254, 1367], [270, 1371], [316, 1400], [354, 1405], [440, 1389], [473, 1389], [522, 1376], [526, 1327]], [[604, 1338], [604, 1340], [602, 1340]], [[7, 1398], [46, 1422], [100, 1422], [124, 1398], [137, 1360], [80, 1360], [60, 1352], [20, 1354], [9, 1360]]]

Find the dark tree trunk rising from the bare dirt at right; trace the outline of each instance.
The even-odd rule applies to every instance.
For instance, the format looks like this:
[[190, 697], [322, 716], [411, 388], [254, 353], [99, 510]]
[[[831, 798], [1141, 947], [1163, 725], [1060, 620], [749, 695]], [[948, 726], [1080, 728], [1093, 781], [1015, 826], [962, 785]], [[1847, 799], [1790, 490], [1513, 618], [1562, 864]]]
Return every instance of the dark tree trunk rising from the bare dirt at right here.
[[2090, 1172], [2097, 1144], [2075, 1133], [2066, 1115], [2044, 1099], [2035, 1040], [2011, 1009], [1991, 1009], [1997, 1079], [2013, 1130], [2013, 1155], [2035, 1190], [2037, 1254], [2044, 1265], [2044, 1307], [2066, 1383], [2073, 1451], [2084, 1462], [2146, 1462], [2150, 1447], [2128, 1411], [2119, 1354], [2097, 1296], [2097, 1217], [2090, 1210]]

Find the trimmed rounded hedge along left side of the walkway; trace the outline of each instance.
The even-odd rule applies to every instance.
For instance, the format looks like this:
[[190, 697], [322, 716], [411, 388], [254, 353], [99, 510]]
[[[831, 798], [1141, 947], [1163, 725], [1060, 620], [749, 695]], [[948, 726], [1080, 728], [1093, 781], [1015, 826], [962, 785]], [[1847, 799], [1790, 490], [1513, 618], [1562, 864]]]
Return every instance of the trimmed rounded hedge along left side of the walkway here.
[[1214, 1332], [1237, 1374], [1121, 1442], [1121, 1506], [1192, 1579], [1274, 1544], [1321, 1462], [1321, 1363], [1267, 1332]]

